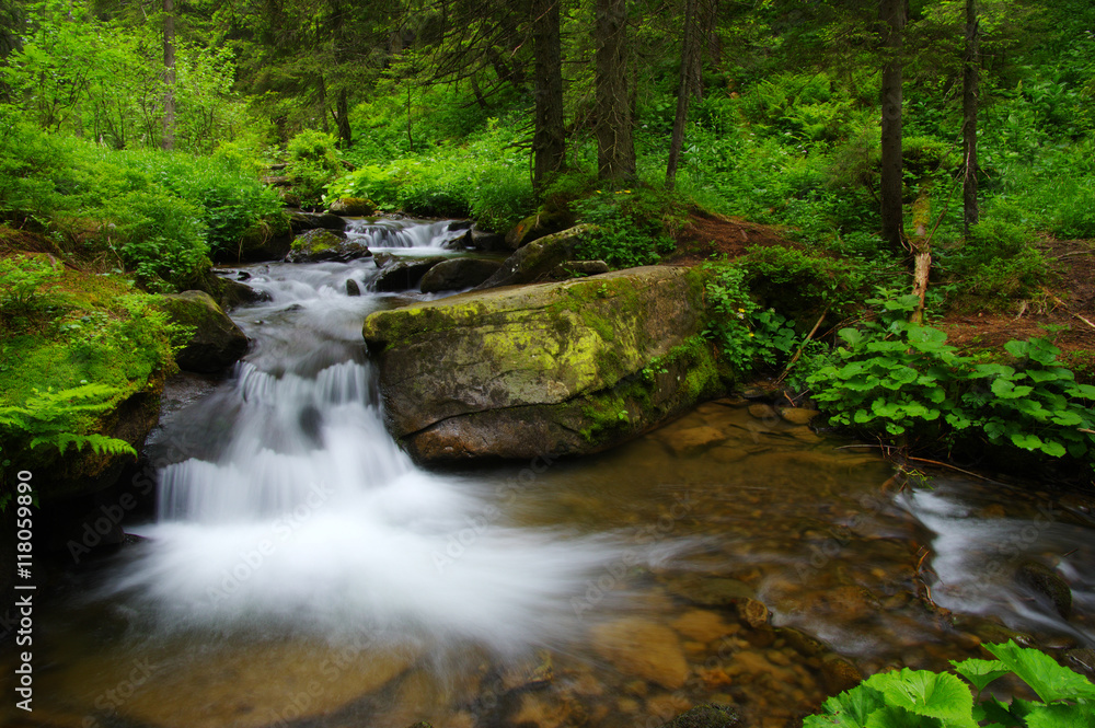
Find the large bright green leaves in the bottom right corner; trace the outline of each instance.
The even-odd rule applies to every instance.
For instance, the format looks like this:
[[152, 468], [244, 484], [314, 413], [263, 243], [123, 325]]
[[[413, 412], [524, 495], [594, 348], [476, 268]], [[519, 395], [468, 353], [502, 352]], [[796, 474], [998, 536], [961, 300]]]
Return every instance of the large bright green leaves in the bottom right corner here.
[[[977, 728], [1029, 726], [1073, 728], [1095, 718], [1095, 685], [1036, 649], [1008, 640], [986, 645], [996, 660], [952, 660], [955, 671], [910, 670], [880, 672], [826, 701], [821, 713], [808, 716], [804, 728]], [[1013, 698], [1003, 703], [981, 698], [986, 685], [1014, 673], [1037, 693], [1040, 702]]]

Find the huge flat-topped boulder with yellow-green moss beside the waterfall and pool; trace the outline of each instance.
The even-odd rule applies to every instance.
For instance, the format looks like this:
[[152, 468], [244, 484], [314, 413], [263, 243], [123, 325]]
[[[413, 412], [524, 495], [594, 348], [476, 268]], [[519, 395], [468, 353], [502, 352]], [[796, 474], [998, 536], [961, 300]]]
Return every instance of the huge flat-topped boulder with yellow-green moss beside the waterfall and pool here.
[[699, 270], [632, 268], [378, 311], [364, 333], [420, 461], [584, 454], [722, 392], [702, 296]]

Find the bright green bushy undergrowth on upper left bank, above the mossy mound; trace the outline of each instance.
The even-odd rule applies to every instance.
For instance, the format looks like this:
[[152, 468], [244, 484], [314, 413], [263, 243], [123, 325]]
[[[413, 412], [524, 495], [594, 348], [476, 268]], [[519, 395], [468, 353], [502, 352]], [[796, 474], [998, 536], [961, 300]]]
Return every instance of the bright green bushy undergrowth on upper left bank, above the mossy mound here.
[[184, 289], [210, 253], [288, 231], [280, 198], [231, 147], [200, 158], [112, 150], [0, 122], [0, 219], [151, 290]]

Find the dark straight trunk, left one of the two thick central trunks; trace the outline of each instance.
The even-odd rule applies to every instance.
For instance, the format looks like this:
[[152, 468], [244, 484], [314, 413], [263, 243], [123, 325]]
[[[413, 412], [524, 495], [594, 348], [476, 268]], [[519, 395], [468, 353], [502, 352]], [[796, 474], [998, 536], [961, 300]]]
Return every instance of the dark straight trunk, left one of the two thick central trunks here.
[[532, 188], [538, 197], [566, 163], [560, 2], [561, 0], [532, 2], [532, 53], [535, 56], [537, 99], [535, 128], [532, 134]]

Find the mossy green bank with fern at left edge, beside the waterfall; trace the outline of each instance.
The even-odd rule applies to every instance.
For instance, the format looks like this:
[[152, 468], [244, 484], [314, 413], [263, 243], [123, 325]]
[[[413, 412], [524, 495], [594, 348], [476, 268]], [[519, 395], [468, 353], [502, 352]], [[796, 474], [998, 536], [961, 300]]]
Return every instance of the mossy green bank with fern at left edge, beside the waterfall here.
[[186, 332], [153, 297], [46, 256], [0, 258], [0, 464], [90, 448], [132, 453], [97, 429], [104, 414], [174, 370]]

